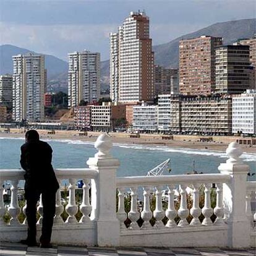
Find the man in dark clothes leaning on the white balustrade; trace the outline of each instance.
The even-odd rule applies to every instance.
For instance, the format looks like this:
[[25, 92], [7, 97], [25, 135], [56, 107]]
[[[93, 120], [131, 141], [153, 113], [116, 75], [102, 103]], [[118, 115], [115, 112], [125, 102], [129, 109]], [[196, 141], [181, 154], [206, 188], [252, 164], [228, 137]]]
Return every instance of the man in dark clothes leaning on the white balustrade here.
[[36, 204], [40, 198], [43, 202], [43, 223], [41, 229], [41, 247], [51, 247], [51, 231], [55, 215], [56, 192], [59, 183], [51, 165], [53, 150], [51, 146], [39, 139], [36, 130], [28, 130], [25, 134], [26, 143], [20, 148], [20, 165], [25, 170], [25, 200], [27, 200], [27, 239], [23, 244], [36, 244]]

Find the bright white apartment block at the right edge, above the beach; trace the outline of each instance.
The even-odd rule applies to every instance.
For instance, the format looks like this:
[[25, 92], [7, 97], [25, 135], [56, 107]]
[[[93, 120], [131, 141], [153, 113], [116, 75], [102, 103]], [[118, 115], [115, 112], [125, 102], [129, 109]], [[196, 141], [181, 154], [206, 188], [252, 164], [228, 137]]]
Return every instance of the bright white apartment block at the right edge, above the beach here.
[[256, 90], [233, 97], [232, 132], [256, 134]]

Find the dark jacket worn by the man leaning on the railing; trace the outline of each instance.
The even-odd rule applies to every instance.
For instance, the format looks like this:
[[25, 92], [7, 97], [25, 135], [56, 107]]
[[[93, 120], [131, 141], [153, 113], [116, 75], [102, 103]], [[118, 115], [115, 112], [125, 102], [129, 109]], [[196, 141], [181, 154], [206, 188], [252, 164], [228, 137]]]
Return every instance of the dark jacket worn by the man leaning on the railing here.
[[31, 140], [23, 144], [20, 151], [20, 165], [25, 170], [25, 189], [57, 191], [59, 183], [51, 165], [51, 146], [41, 140]]

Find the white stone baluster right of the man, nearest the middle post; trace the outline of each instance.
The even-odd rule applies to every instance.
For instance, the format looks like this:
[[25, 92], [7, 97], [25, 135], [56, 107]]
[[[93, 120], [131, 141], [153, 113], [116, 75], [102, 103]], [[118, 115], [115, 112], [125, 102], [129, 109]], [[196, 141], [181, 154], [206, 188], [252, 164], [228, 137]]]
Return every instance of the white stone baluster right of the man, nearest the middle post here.
[[79, 221], [80, 223], [87, 223], [88, 221], [91, 221], [88, 216], [92, 211], [92, 206], [90, 205], [89, 190], [90, 190], [90, 179], [83, 179], [83, 198], [82, 198], [82, 203], [79, 207], [81, 213], [83, 213], [83, 216]]

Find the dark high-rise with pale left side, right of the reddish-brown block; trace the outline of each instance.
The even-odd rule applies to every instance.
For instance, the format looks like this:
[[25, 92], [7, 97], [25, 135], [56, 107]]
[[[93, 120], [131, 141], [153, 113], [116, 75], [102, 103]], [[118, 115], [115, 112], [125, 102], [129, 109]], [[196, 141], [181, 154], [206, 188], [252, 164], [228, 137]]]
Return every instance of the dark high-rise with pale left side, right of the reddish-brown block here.
[[243, 93], [251, 86], [249, 46], [226, 45], [216, 48], [216, 93]]

